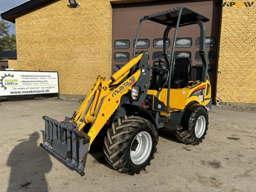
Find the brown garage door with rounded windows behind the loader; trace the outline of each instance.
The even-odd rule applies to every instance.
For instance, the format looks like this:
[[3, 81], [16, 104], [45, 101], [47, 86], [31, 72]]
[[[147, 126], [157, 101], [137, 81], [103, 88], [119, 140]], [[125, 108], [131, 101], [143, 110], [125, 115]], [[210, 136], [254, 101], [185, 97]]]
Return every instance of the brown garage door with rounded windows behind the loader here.
[[[219, 28], [220, 28], [220, 7], [215, 6], [217, 1], [154, 1], [133, 4], [113, 4], [113, 20], [112, 20], [112, 72], [115, 65], [123, 65], [132, 59], [133, 41], [139, 20], [142, 16], [167, 10], [169, 8], [186, 5], [208, 17], [211, 21], [206, 22], [206, 45], [209, 52], [209, 76], [212, 84], [212, 98], [215, 92], [216, 66], [219, 44]], [[141, 25], [139, 42], [136, 49], [148, 50], [149, 64], [153, 60], [161, 57], [162, 38], [165, 26], [154, 23], [152, 21], [143, 21]], [[171, 51], [174, 29], [169, 33]], [[191, 25], [179, 28], [177, 47], [175, 48], [175, 57], [189, 57], [192, 65], [202, 65], [199, 61], [199, 47], [197, 38], [200, 36], [200, 28], [198, 25]]]

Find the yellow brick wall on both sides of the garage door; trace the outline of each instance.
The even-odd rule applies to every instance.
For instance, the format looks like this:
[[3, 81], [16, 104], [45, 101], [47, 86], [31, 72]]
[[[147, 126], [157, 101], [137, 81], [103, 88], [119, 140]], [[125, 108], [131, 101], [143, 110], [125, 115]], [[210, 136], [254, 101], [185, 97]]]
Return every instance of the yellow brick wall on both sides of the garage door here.
[[[66, 0], [53, 1], [16, 18], [18, 69], [59, 71], [61, 94], [86, 95], [97, 75], [111, 73], [109, 1], [81, 0], [76, 8]], [[111, 2], [121, 1], [136, 2]], [[223, 7], [219, 102], [256, 103], [255, 5]]]

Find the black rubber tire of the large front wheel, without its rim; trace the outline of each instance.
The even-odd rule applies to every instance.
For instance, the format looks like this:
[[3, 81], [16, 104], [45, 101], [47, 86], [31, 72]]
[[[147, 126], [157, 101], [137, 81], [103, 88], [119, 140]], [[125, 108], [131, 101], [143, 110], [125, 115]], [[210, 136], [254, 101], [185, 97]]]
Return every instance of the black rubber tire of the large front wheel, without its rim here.
[[[152, 148], [148, 158], [141, 164], [134, 164], [131, 160], [130, 149], [132, 141], [140, 132], [148, 132], [152, 140]], [[104, 138], [103, 151], [108, 163], [118, 172], [133, 175], [139, 174], [150, 165], [151, 159], [154, 159], [158, 136], [156, 128], [147, 119], [138, 116], [125, 116], [112, 123]]]

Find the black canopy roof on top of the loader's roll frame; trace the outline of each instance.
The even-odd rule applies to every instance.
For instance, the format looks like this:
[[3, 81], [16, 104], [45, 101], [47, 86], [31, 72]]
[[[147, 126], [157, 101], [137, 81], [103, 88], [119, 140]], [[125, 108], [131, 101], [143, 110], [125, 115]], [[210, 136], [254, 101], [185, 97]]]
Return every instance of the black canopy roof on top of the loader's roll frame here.
[[180, 25], [179, 25], [180, 27], [193, 24], [197, 20], [201, 20], [203, 22], [210, 21], [209, 17], [199, 12], [196, 12], [187, 6], [180, 6], [180, 7], [169, 9], [166, 11], [146, 15], [142, 17], [140, 21], [151, 20], [166, 26], [169, 26], [169, 25], [175, 26], [177, 23], [179, 14], [181, 14]]

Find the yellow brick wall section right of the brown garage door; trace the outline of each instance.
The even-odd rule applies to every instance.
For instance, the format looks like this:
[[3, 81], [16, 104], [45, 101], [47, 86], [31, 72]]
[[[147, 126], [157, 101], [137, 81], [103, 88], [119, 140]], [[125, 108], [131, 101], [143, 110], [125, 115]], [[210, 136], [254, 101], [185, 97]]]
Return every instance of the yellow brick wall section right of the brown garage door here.
[[256, 103], [256, 2], [254, 3], [252, 7], [239, 3], [222, 8], [216, 84], [216, 100], [219, 102]]

